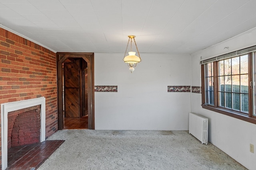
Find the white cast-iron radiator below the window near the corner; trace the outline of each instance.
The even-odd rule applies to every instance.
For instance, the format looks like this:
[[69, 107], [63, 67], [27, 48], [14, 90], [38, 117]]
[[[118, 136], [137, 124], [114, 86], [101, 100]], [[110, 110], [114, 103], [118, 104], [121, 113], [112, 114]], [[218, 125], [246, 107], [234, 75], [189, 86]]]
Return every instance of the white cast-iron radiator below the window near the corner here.
[[189, 134], [193, 135], [199, 141], [208, 143], [208, 118], [196, 113], [189, 113]]

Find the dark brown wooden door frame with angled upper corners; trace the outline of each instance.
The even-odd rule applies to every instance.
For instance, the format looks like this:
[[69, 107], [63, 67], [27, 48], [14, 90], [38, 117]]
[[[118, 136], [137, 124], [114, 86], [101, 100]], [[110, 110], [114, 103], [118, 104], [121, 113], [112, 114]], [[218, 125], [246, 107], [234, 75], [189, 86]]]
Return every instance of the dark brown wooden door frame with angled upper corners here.
[[82, 58], [87, 62], [88, 68], [88, 129], [95, 129], [94, 120], [94, 53], [67, 53], [57, 52], [57, 88], [58, 88], [58, 130], [64, 128], [63, 117], [63, 82], [62, 63], [68, 58]]

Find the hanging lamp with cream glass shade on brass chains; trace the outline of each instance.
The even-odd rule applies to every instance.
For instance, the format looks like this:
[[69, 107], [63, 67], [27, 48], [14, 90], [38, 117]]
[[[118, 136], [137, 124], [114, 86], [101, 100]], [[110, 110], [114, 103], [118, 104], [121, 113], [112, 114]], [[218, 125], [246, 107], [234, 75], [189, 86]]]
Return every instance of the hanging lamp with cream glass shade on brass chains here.
[[[127, 46], [126, 46], [126, 50], [125, 50], [125, 53], [124, 53], [124, 59], [123, 59], [123, 61], [124, 61], [124, 63], [127, 63], [128, 64], [128, 67], [130, 67], [129, 68], [129, 70], [130, 70], [130, 72], [132, 73], [133, 71], [134, 71], [134, 67], [136, 67], [136, 64], [137, 63], [140, 63], [142, 60], [140, 59], [140, 53], [139, 53], [139, 51], [138, 51], [138, 47], [137, 47], [137, 44], [136, 44], [136, 41], [135, 41], [135, 35], [128, 35], [128, 37], [129, 37], [129, 40], [128, 40], [128, 43], [127, 43]], [[134, 43], [135, 43], [135, 47], [136, 47], [136, 50], [137, 50], [137, 52], [138, 52], [138, 56], [136, 56], [135, 54], [136, 54], [136, 52], [133, 52], [132, 51], [132, 39], [134, 40]], [[129, 53], [129, 55], [127, 55], [127, 56], [125, 56], [126, 55], [126, 51], [127, 51], [127, 48], [128, 48], [128, 45], [129, 45], [129, 43], [130, 43], [130, 40], [131, 40], [131, 51], [130, 52], [128, 52]]]

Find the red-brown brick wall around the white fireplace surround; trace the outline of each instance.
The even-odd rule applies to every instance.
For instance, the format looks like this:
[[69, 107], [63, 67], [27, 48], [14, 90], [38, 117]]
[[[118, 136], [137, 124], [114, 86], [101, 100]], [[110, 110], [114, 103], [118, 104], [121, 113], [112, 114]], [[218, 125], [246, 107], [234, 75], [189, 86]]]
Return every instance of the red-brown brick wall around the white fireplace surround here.
[[39, 97], [47, 138], [58, 129], [56, 53], [0, 28], [0, 104]]

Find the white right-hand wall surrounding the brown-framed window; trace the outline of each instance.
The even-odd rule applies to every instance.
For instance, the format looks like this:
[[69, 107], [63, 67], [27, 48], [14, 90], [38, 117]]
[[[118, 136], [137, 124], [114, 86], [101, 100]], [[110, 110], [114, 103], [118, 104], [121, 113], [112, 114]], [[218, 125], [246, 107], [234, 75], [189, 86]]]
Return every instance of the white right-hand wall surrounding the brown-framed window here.
[[[256, 45], [256, 28], [192, 54], [192, 86], [200, 86], [200, 58], [209, 59]], [[224, 47], [229, 47], [224, 49]], [[250, 170], [256, 169], [256, 125], [203, 109], [201, 94], [192, 93], [192, 112], [209, 118], [209, 141]], [[254, 153], [250, 152], [250, 143]]]

